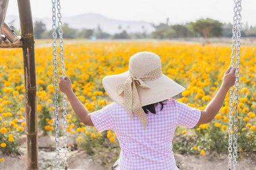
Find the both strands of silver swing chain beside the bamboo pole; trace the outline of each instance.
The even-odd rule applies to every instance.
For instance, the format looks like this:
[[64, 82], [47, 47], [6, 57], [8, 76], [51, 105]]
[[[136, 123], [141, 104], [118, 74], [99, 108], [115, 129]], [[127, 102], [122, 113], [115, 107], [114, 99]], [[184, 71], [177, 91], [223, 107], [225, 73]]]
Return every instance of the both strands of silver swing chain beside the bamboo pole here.
[[[57, 84], [58, 82], [58, 76], [57, 76], [57, 73], [58, 73], [58, 69], [57, 69], [57, 42], [56, 42], [56, 39], [57, 39], [57, 33], [56, 33], [56, 29], [57, 29], [57, 25], [56, 25], [56, 6], [57, 6], [57, 18], [59, 19], [59, 21], [57, 22], [58, 23], [58, 26], [59, 26], [59, 36], [60, 36], [60, 55], [61, 55], [61, 71], [62, 71], [62, 75], [65, 77], [65, 66], [64, 66], [64, 62], [65, 62], [65, 59], [64, 59], [64, 50], [63, 50], [63, 30], [61, 29], [62, 27], [62, 22], [61, 22], [61, 13], [60, 13], [60, 0], [57, 0], [57, 5], [56, 5], [56, 0], [52, 0], [52, 29], [53, 29], [53, 33], [52, 33], [52, 36], [53, 36], [53, 42], [52, 42], [52, 46], [53, 46], [53, 56], [54, 56], [54, 59], [53, 59], [53, 72], [55, 73], [54, 77], [53, 77], [53, 80], [55, 82], [54, 84], [54, 89], [55, 89], [55, 94], [54, 94], [54, 97], [55, 97], [55, 133], [56, 133], [56, 137], [55, 137], [55, 142], [56, 142], [56, 170], [59, 170], [60, 169], [60, 154], [59, 154], [59, 151], [60, 151], [60, 146], [59, 146], [59, 102], [57, 101], [58, 100], [58, 93], [57, 91], [59, 90], [59, 86]], [[64, 167], [65, 169], [68, 168], [68, 162], [67, 162], [67, 151], [68, 151], [68, 142], [67, 142], [67, 97], [65, 94], [63, 94], [63, 116], [64, 116], [64, 121], [63, 121], [63, 124], [64, 124]]]

